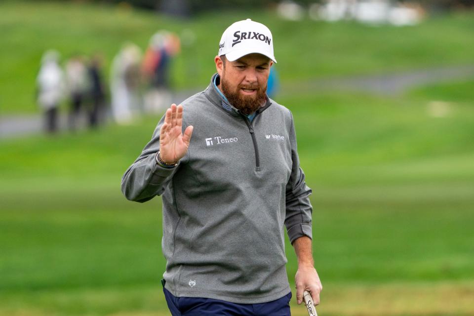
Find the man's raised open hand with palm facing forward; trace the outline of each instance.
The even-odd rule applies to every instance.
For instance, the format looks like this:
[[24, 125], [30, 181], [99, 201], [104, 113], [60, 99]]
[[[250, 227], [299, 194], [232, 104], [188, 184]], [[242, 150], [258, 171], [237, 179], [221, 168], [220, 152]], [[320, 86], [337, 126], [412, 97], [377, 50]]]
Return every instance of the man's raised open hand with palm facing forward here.
[[182, 133], [182, 125], [183, 106], [173, 103], [166, 110], [164, 123], [159, 130], [159, 156], [166, 163], [178, 161], [188, 152], [193, 126], [186, 127]]

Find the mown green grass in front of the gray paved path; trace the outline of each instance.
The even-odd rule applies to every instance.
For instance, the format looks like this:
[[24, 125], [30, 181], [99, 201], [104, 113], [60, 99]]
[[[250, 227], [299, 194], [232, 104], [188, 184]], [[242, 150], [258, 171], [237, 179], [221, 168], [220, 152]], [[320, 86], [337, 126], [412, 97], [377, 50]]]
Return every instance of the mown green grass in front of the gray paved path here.
[[[321, 315], [474, 313], [470, 87], [279, 100], [314, 192]], [[119, 191], [157, 120], [0, 143], [0, 315], [168, 315], [160, 199]], [[287, 256], [293, 282], [289, 244]]]

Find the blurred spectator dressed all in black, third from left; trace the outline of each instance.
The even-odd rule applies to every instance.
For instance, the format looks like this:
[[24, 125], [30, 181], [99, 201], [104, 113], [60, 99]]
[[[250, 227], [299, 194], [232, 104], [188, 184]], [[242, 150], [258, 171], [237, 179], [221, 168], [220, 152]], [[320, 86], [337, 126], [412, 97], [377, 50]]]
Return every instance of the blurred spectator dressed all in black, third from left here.
[[105, 88], [102, 77], [103, 57], [95, 54], [89, 62], [89, 82], [91, 105], [89, 107], [89, 126], [97, 127], [104, 118]]

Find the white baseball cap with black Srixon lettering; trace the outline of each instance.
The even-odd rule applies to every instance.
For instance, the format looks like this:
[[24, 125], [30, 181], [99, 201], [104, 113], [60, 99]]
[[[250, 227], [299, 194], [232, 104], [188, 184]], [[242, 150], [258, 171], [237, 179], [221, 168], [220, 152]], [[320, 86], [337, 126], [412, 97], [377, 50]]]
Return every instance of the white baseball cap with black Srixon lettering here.
[[229, 61], [235, 61], [251, 53], [265, 55], [276, 62], [272, 32], [265, 25], [246, 19], [232, 24], [224, 31], [219, 42], [218, 56], [226, 55]]

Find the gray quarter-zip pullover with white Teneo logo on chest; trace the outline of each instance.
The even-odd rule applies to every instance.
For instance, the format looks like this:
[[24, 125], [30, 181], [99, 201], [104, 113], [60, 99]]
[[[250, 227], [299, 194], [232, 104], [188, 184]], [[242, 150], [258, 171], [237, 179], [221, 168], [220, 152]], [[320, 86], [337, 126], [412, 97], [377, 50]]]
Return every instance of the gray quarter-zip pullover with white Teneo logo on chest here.
[[121, 188], [139, 202], [162, 195], [163, 277], [174, 296], [270, 302], [290, 292], [284, 227], [291, 242], [312, 237], [311, 189], [291, 112], [268, 99], [250, 122], [222, 105], [214, 76], [182, 102], [183, 131], [194, 126], [186, 156], [157, 165], [163, 117]]

